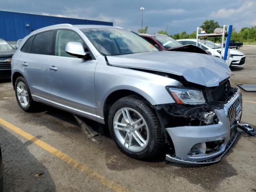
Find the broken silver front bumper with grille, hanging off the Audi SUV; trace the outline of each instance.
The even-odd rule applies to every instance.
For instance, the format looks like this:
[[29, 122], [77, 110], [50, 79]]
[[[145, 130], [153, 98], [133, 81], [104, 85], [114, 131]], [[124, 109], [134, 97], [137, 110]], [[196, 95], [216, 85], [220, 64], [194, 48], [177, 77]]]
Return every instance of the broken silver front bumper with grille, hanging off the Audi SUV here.
[[[166, 160], [185, 164], [210, 164], [220, 161], [234, 143], [238, 132], [236, 130], [242, 115], [242, 96], [240, 90], [223, 109], [214, 111], [218, 124], [205, 126], [182, 126], [166, 128], [174, 144], [175, 155], [166, 154]], [[223, 140], [216, 152], [191, 155], [191, 148], [198, 143]]]

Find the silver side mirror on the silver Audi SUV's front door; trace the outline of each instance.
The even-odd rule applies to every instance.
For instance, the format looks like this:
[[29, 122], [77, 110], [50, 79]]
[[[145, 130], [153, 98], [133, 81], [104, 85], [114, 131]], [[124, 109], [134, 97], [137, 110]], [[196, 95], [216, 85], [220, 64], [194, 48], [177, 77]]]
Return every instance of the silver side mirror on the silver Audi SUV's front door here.
[[78, 58], [88, 59], [90, 58], [90, 52], [84, 51], [84, 46], [80, 42], [68, 42], [65, 47], [65, 51]]

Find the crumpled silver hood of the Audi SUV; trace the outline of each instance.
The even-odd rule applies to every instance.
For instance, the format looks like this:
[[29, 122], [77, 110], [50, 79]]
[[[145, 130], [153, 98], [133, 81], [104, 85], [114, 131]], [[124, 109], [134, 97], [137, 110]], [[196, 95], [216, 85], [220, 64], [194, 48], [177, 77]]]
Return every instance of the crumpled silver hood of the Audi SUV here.
[[222, 59], [207, 54], [159, 51], [107, 56], [107, 59], [113, 66], [168, 72], [207, 87], [218, 86], [232, 75]]

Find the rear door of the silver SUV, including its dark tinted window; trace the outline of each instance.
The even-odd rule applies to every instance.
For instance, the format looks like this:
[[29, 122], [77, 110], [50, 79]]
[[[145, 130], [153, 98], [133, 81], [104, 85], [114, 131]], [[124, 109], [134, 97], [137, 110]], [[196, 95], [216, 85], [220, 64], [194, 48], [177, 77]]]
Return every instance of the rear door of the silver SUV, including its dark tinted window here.
[[26, 81], [33, 96], [50, 99], [49, 62], [52, 55], [54, 31], [30, 37], [19, 54]]

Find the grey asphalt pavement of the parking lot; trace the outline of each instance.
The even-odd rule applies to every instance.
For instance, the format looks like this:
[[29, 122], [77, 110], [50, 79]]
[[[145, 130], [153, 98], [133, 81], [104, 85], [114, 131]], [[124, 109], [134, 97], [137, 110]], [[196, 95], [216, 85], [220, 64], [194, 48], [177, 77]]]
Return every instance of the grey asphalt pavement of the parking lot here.
[[[246, 65], [232, 68], [231, 82], [256, 84], [256, 47], [240, 51]], [[242, 94], [242, 122], [256, 127], [256, 93]], [[0, 109], [4, 192], [256, 191], [256, 137], [244, 132], [220, 162], [185, 166], [165, 164], [164, 156], [154, 162], [129, 158], [106, 130], [96, 136], [100, 144], [88, 140], [62, 110], [42, 106], [23, 112], [10, 81], [0, 82]]]

